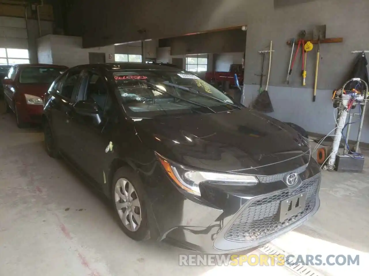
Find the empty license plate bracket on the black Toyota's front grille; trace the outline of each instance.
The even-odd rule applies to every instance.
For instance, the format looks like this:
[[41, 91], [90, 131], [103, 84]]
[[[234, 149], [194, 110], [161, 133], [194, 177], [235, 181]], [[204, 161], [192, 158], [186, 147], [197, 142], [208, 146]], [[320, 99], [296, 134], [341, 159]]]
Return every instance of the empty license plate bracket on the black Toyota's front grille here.
[[305, 209], [306, 195], [307, 192], [303, 192], [282, 200], [279, 204], [276, 220], [284, 222], [284, 220], [302, 212]]

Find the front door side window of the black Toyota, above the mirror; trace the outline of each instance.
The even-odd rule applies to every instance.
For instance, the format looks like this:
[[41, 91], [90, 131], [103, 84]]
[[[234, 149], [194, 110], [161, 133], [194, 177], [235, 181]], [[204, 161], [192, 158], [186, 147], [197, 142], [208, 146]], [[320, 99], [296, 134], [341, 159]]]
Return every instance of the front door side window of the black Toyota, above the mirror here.
[[85, 100], [96, 103], [100, 110], [103, 111], [107, 96], [108, 91], [105, 79], [96, 73], [90, 73], [86, 87]]

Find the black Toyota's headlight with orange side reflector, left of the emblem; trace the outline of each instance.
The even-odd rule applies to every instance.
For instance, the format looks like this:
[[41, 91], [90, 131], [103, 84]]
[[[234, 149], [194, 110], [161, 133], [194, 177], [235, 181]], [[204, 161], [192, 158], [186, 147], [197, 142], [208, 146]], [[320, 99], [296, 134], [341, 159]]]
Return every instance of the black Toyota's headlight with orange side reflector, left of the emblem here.
[[169, 177], [178, 187], [201, 196], [201, 183], [214, 183], [215, 185], [256, 185], [259, 181], [255, 176], [245, 174], [213, 173], [207, 171], [197, 171], [186, 169], [182, 165], [176, 164], [157, 153], [158, 159]]

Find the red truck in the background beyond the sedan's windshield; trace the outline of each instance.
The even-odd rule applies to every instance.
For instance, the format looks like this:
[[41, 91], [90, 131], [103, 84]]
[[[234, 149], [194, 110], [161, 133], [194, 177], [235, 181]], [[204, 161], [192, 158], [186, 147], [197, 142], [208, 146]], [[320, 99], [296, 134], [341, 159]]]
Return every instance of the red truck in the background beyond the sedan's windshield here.
[[206, 72], [205, 81], [215, 87], [224, 87], [229, 81], [230, 86], [236, 86], [234, 74], [237, 74], [239, 85], [244, 84], [244, 68], [242, 64], [231, 64], [228, 72]]

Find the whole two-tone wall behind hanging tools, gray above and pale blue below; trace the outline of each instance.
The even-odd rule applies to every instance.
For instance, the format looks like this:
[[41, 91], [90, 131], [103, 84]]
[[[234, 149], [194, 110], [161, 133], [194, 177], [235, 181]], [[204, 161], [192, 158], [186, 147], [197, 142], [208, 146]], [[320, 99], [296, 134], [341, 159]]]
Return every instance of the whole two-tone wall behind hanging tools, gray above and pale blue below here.
[[[288, 16], [286, 16], [286, 14]], [[352, 20], [339, 20], [337, 15], [355, 14]], [[352, 70], [356, 54], [352, 50], [369, 50], [369, 1], [318, 0], [310, 3], [273, 9], [265, 7], [265, 16], [248, 24], [245, 52], [244, 104], [248, 106], [258, 93], [261, 55], [273, 40], [270, 99], [275, 112], [269, 116], [301, 125], [307, 131], [327, 134], [335, 127], [332, 91], [343, 85]], [[314, 25], [327, 24], [327, 37], [343, 37], [343, 43], [321, 45], [316, 102], [313, 98], [316, 50], [308, 53], [307, 84], [302, 86], [301, 63], [296, 63], [290, 84], [285, 83], [291, 48], [286, 41], [301, 29], [311, 33]], [[267, 67], [269, 58], [266, 57]], [[266, 78], [265, 78], [266, 82]], [[264, 83], [265, 86], [265, 83]], [[356, 112], [356, 111], [355, 111]], [[367, 113], [368, 114], [368, 113]], [[355, 139], [358, 124], [352, 126]], [[354, 134], [355, 133], [355, 134]], [[369, 142], [369, 117], [364, 122], [362, 141]]]

